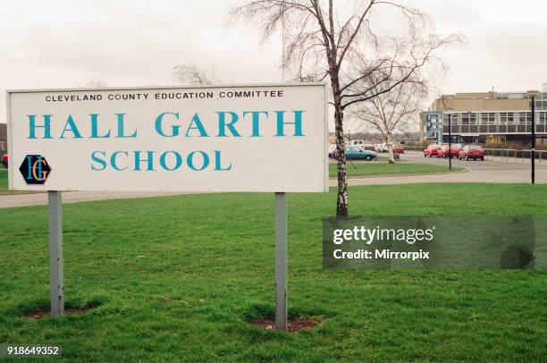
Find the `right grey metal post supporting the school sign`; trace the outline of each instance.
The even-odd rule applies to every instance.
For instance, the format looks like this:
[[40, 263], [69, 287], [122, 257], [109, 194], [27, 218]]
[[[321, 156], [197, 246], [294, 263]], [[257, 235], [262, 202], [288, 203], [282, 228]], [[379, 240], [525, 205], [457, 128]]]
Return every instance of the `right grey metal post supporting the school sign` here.
[[275, 193], [275, 329], [287, 330], [287, 197]]

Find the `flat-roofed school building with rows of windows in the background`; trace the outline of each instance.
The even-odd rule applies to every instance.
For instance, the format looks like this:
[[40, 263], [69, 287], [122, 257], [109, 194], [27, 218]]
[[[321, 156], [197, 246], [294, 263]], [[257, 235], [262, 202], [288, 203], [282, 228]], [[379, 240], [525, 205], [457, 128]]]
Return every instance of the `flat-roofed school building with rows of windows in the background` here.
[[[455, 142], [484, 142], [488, 136], [502, 141], [530, 142], [532, 110], [526, 92], [477, 92], [443, 95], [420, 114], [420, 139], [448, 141], [451, 125]], [[547, 83], [535, 97], [535, 132], [547, 139]]]

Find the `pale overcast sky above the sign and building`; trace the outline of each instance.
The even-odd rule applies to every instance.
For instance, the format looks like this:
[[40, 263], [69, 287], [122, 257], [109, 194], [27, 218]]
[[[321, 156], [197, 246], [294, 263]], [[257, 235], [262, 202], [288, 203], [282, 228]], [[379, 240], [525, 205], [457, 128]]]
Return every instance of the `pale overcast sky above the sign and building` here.
[[[467, 46], [444, 52], [444, 93], [539, 89], [547, 82], [547, 1], [409, 1], [441, 34]], [[0, 0], [0, 122], [5, 89], [173, 84], [195, 63], [228, 83], [281, 80], [281, 44], [260, 45], [256, 24], [228, 29], [238, 0]], [[396, 26], [396, 25], [394, 25]]]

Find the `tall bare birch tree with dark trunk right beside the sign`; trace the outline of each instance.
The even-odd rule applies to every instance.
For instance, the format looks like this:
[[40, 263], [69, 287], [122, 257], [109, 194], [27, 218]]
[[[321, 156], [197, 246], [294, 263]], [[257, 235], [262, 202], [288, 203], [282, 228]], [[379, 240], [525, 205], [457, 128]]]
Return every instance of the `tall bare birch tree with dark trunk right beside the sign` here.
[[[376, 10], [386, 9], [397, 13], [398, 19], [392, 23], [404, 36], [383, 37], [374, 31]], [[338, 0], [336, 8], [333, 0], [254, 0], [231, 11], [232, 21], [241, 17], [261, 22], [263, 40], [283, 27], [281, 66], [294, 80], [330, 80], [338, 151], [336, 215], [346, 217], [344, 111], [408, 81], [436, 59], [440, 47], [458, 41], [458, 37], [434, 35], [425, 14], [400, 0]], [[376, 83], [370, 84], [370, 80]]]

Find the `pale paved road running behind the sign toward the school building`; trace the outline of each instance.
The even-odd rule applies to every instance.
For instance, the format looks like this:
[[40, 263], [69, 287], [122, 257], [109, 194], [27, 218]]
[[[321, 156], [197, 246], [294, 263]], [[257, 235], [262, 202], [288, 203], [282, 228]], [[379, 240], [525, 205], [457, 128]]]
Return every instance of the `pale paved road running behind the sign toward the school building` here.
[[[403, 156], [411, 162], [448, 165], [448, 159], [424, 157], [421, 153], [408, 152]], [[524, 163], [508, 163], [501, 161], [459, 161], [452, 160], [453, 165], [467, 168], [467, 173], [443, 173], [413, 176], [379, 176], [371, 178], [352, 178], [349, 185], [374, 184], [407, 184], [421, 182], [530, 182], [530, 165]], [[547, 183], [547, 165], [537, 165], [535, 181]], [[336, 186], [336, 180], [330, 185]], [[76, 203], [86, 200], [102, 200], [115, 198], [146, 198], [158, 196], [180, 195], [184, 193], [130, 192], [130, 191], [71, 191], [63, 193], [63, 203]], [[46, 205], [46, 193], [4, 195], [0, 196], [0, 208], [27, 207]]]

